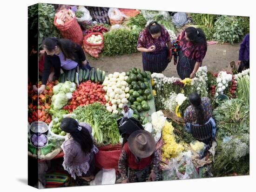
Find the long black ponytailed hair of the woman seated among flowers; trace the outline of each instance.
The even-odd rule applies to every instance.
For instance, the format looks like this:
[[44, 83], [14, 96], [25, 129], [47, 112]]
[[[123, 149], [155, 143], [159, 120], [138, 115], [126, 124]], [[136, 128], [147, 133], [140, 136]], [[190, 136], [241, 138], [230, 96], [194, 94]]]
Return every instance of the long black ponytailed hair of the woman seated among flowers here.
[[201, 96], [196, 92], [190, 93], [189, 101], [196, 109], [197, 123], [203, 125], [205, 123], [205, 115], [202, 109]]

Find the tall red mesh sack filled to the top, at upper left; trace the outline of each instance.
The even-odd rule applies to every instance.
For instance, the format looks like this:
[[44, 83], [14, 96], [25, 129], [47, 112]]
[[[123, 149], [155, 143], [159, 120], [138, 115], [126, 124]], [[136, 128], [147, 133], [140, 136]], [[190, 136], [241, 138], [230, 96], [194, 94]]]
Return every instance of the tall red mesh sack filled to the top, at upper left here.
[[82, 44], [83, 32], [77, 23], [74, 12], [70, 9], [62, 9], [55, 14], [54, 26], [60, 30], [63, 38], [70, 39], [78, 45]]

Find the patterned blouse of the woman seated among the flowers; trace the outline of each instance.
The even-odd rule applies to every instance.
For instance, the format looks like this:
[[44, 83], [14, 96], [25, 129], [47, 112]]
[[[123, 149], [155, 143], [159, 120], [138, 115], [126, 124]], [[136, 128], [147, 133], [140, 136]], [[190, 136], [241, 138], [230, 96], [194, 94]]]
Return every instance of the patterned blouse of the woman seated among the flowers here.
[[[209, 97], [204, 96], [202, 97], [202, 109], [205, 114], [205, 120], [208, 121], [209, 118], [212, 117], [212, 106]], [[190, 105], [184, 113], [183, 117], [185, 122], [190, 122], [196, 124], [197, 116], [196, 116], [196, 109], [192, 105]]]

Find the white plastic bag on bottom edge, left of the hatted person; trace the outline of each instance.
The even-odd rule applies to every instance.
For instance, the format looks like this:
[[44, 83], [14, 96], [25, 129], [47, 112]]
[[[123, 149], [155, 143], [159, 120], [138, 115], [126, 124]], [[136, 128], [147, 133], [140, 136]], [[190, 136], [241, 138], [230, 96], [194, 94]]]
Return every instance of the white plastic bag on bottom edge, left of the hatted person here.
[[90, 182], [90, 186], [115, 184], [115, 169], [102, 169]]

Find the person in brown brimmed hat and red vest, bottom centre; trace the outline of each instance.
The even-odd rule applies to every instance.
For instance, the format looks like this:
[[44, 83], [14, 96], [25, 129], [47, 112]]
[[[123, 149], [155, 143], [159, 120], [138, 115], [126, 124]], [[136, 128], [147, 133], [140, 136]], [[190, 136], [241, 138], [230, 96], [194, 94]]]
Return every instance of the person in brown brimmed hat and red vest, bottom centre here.
[[129, 136], [119, 157], [118, 170], [122, 183], [157, 179], [159, 158], [154, 137], [148, 131], [137, 130]]

